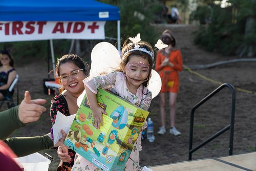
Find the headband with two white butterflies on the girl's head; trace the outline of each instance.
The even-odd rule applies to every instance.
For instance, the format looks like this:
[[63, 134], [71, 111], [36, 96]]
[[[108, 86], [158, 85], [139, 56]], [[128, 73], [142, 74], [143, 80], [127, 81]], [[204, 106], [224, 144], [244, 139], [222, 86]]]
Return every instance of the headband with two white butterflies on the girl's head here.
[[[136, 37], [129, 37], [129, 40], [131, 40], [133, 42], [134, 45], [134, 48], [133, 49], [130, 49], [128, 51], [126, 51], [123, 56], [125, 56], [127, 53], [129, 52], [132, 52], [132, 51], [142, 51], [142, 52], [145, 52], [147, 53], [148, 55], [150, 55], [152, 58], [153, 58], [153, 52], [151, 51], [148, 51], [146, 50], [145, 48], [140, 48], [139, 45], [136, 45], [137, 42], [139, 42], [141, 39], [140, 39], [140, 33], [137, 34]], [[165, 45], [163, 44], [162, 40], [158, 39], [157, 41], [157, 44], [155, 45], [156, 48], [158, 48], [159, 50], [163, 49], [163, 48], [166, 48], [168, 45]], [[154, 49], [156, 50], [156, 49]], [[154, 51], [153, 50], [153, 51]]]

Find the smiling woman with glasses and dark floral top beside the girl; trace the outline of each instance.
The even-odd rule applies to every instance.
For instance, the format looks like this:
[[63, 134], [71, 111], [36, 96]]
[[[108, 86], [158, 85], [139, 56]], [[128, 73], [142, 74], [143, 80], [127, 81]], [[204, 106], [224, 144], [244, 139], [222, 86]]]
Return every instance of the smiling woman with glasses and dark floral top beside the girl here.
[[[56, 95], [51, 101], [51, 121], [55, 123], [57, 111], [63, 115], [69, 116], [76, 114], [78, 106], [76, 104], [77, 97], [83, 92], [84, 85], [82, 80], [89, 74], [89, 66], [78, 55], [67, 54], [57, 59], [56, 73], [59, 76], [62, 87], [59, 89], [59, 95]], [[69, 149], [59, 147], [58, 156], [69, 153], [69, 158], [61, 158], [57, 170], [71, 170], [74, 164], [75, 152]]]

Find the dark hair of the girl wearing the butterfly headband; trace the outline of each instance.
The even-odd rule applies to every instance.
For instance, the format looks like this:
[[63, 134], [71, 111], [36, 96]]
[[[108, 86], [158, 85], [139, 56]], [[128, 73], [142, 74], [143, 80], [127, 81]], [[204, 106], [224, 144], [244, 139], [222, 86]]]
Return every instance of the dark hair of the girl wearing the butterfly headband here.
[[[148, 86], [148, 81], [151, 78], [151, 70], [152, 70], [153, 62], [154, 62], [153, 48], [146, 41], [139, 41], [136, 44], [134, 44], [133, 42], [129, 43], [128, 41], [129, 41], [129, 39], [127, 39], [123, 44], [122, 59], [121, 59], [121, 64], [120, 64], [120, 68], [118, 69], [118, 71], [122, 71], [122, 68], [125, 67], [125, 65], [129, 62], [131, 55], [139, 55], [139, 56], [143, 57], [144, 59], [147, 59], [148, 63], [150, 63], [150, 72], [148, 73], [148, 76], [147, 76], [146, 80], [142, 83], [142, 85], [144, 87], [147, 87]], [[140, 48], [146, 49], [148, 52], [152, 52], [153, 56], [151, 56], [150, 54], [147, 54], [146, 52], [143, 52], [143, 51], [131, 51], [131, 52], [128, 52], [128, 53], [125, 54], [125, 52], [127, 52], [131, 49], [134, 49], [135, 45], [139, 46]]]

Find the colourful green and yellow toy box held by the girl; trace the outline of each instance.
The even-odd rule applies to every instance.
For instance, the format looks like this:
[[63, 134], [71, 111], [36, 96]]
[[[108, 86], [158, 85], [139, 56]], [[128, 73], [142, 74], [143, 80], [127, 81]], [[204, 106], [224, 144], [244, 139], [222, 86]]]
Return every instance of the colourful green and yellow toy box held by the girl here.
[[103, 170], [123, 170], [149, 112], [123, 98], [99, 89], [99, 106], [107, 115], [99, 130], [86, 95], [65, 139], [65, 144]]

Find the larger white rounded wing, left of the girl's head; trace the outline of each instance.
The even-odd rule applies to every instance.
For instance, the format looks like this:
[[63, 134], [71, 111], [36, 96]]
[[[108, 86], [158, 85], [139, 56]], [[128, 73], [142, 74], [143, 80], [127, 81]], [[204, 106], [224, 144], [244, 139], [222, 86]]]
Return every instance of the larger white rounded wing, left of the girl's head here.
[[108, 73], [120, 66], [121, 58], [118, 50], [109, 42], [100, 42], [91, 53], [90, 77]]

